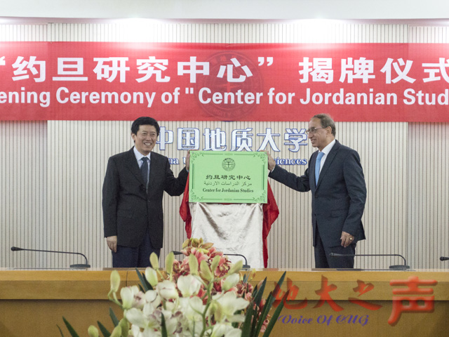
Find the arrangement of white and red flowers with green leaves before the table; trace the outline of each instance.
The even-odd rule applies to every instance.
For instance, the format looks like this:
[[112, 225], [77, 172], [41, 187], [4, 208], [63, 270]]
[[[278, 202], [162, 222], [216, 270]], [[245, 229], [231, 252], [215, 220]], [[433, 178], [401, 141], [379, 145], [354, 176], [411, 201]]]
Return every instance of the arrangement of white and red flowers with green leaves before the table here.
[[[281, 301], [269, 319], [285, 273], [265, 300], [262, 294], [267, 280], [253, 288], [248, 275], [240, 273], [243, 263], [232, 264], [213, 244], [187, 239], [182, 253], [183, 260], [169, 253], [165, 270], [159, 268], [159, 260], [152, 254], [152, 267], [147, 267], [145, 275], [136, 268], [141, 284], [120, 289], [121, 301], [116, 295], [119, 272], [112, 272], [108, 297], [121, 307], [123, 319], [117, 319], [110, 310], [115, 328], [109, 333], [99, 323], [103, 336], [239, 337], [259, 336], [262, 332], [269, 336], [283, 308]], [[74, 333], [72, 326], [64, 322]], [[99, 336], [95, 326], [89, 327], [88, 334]]]

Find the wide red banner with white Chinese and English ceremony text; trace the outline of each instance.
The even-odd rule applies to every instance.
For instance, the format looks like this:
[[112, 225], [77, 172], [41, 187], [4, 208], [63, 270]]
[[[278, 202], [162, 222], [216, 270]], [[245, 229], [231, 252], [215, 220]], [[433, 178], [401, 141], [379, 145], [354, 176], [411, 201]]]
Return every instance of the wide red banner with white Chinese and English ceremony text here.
[[449, 121], [448, 44], [0, 42], [0, 120]]

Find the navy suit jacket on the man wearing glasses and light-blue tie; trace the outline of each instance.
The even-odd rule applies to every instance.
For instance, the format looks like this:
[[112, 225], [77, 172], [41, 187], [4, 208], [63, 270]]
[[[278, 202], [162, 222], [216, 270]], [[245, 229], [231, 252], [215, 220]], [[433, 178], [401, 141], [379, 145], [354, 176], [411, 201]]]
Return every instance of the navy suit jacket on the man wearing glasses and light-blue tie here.
[[311, 191], [311, 220], [323, 244], [340, 246], [342, 231], [354, 236], [354, 243], [365, 239], [361, 221], [366, 202], [366, 184], [358, 153], [337, 140], [326, 157], [318, 184], [315, 183], [315, 162], [318, 151], [309, 159], [303, 176], [289, 173], [276, 165], [269, 177], [300, 192]]

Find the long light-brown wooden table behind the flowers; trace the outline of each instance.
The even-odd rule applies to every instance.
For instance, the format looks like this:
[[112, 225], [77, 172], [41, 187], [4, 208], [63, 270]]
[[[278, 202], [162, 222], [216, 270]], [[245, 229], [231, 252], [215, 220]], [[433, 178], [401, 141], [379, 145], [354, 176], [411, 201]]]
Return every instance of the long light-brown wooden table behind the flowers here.
[[[0, 336], [80, 336], [97, 321], [109, 331], [111, 270], [0, 270]], [[119, 270], [121, 286], [138, 284], [135, 270]], [[282, 270], [257, 270], [274, 289]], [[272, 336], [445, 336], [449, 272], [443, 270], [287, 270], [290, 291]], [[267, 293], [268, 293], [267, 291]], [[266, 293], [266, 295], [267, 295]], [[447, 335], [446, 335], [447, 336]]]

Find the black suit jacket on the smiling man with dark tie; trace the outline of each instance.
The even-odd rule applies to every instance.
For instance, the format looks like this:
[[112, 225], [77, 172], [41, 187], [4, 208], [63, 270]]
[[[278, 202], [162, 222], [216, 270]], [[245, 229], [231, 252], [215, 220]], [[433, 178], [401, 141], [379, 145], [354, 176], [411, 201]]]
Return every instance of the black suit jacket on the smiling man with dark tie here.
[[188, 173], [182, 169], [173, 176], [168, 158], [152, 152], [148, 189], [133, 148], [109, 158], [103, 183], [103, 221], [105, 237], [117, 236], [120, 246], [137, 247], [149, 227], [155, 249], [163, 244], [163, 191], [170, 195], [184, 192]]

